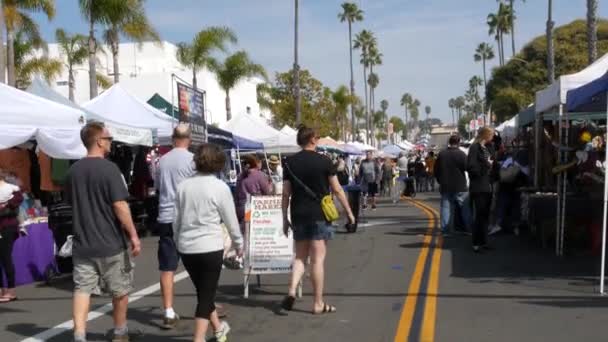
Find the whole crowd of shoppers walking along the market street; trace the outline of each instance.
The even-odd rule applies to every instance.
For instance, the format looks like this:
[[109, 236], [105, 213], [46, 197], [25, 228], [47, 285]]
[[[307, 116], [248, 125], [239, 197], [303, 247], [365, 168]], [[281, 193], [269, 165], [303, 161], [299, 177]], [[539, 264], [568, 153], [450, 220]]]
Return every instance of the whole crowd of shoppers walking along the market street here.
[[[70, 246], [60, 246], [70, 249], [73, 265], [73, 341], [87, 340], [90, 297], [100, 292], [112, 297], [112, 341], [129, 341], [137, 334], [128, 329], [127, 308], [133, 258], [140, 254], [141, 242], [127, 203], [124, 174], [106, 158], [112, 152], [112, 135], [103, 124], [91, 122], [82, 129], [81, 139], [87, 156], [70, 166], [63, 191], [62, 210], [72, 216], [73, 238]], [[301, 151], [294, 155], [263, 161], [255, 154], [243, 155], [234, 189], [224, 181], [227, 157], [221, 147], [192, 146], [187, 125], [177, 126], [172, 139], [173, 148], [158, 160], [154, 175], [161, 327], [174, 329], [180, 321], [173, 308], [173, 284], [181, 260], [196, 289], [195, 342], [226, 341], [231, 330], [215, 297], [222, 268], [243, 267], [246, 208], [252, 196], [281, 195], [283, 230], [293, 236], [294, 261], [280, 308], [293, 309], [297, 287], [310, 265], [314, 293], [310, 309], [322, 315], [337, 311], [323, 297], [327, 242], [336, 225], [334, 200], [346, 214], [347, 230], [355, 231], [359, 209], [376, 210], [379, 197], [397, 203], [403, 196], [439, 189], [442, 235], [472, 233], [473, 250], [481, 253], [491, 248], [488, 232], [517, 231], [517, 215], [510, 212], [517, 207], [514, 189], [528, 181], [525, 158], [507, 151], [499, 135], [487, 127], [464, 151], [459, 136], [452, 135], [438, 155], [433, 150], [404, 151], [399, 156], [374, 156], [367, 151], [364, 158], [356, 159], [319, 153], [316, 131], [300, 127]], [[347, 196], [345, 189], [361, 193], [362, 201]], [[7, 276], [0, 303], [17, 300], [11, 251], [23, 234], [17, 210], [22, 201], [18, 179], [0, 172], [0, 266]]]

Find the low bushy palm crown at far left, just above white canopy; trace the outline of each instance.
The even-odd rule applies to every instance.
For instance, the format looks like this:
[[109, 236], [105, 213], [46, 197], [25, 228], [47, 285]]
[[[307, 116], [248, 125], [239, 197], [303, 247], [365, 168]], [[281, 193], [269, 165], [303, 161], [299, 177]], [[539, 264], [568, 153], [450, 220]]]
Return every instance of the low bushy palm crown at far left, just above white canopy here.
[[28, 38], [28, 34], [19, 30], [15, 32], [13, 41], [15, 62], [15, 86], [25, 89], [29, 86], [34, 75], [41, 75], [51, 82], [63, 69], [63, 63], [55, 58], [37, 56], [39, 46]]

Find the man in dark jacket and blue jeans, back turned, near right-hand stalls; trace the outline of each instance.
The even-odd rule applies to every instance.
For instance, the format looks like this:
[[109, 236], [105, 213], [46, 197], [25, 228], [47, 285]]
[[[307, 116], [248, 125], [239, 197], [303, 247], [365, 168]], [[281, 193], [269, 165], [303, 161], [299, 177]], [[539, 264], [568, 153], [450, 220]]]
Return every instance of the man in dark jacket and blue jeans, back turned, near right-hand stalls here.
[[458, 147], [460, 138], [452, 135], [448, 141], [448, 148], [441, 151], [435, 162], [435, 177], [439, 182], [441, 193], [441, 232], [444, 236], [449, 234], [449, 225], [454, 209], [458, 207], [462, 221], [469, 230], [471, 227], [471, 214], [467, 202], [466, 163], [467, 156]]

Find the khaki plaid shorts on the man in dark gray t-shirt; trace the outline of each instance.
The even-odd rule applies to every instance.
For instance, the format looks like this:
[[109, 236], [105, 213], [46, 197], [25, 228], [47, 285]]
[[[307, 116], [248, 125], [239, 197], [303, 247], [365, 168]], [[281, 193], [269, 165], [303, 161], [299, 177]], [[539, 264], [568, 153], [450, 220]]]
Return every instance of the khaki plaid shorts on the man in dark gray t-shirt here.
[[102, 291], [123, 297], [133, 290], [133, 266], [124, 251], [110, 257], [74, 257], [74, 291], [86, 294]]

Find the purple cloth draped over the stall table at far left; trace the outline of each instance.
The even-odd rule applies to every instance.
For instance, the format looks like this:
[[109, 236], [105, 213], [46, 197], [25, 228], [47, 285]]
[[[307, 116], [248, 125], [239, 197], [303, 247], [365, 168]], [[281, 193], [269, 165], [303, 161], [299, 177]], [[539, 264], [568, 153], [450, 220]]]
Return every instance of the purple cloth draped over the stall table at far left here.
[[26, 229], [28, 235], [20, 236], [13, 247], [17, 286], [45, 280], [46, 271], [56, 269], [55, 242], [48, 224], [31, 224]]

